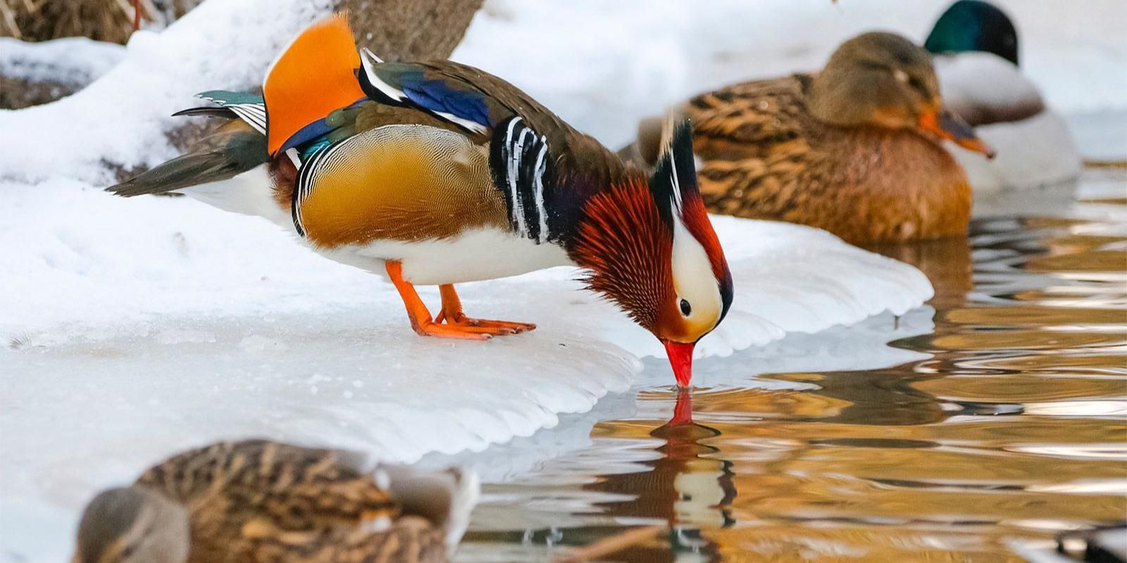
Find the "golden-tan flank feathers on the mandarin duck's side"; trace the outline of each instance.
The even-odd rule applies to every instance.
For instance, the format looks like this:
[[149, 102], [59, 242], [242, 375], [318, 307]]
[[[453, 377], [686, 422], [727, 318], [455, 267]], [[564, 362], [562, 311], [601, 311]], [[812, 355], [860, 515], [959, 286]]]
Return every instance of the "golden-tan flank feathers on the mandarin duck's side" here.
[[420, 125], [357, 134], [318, 157], [300, 194], [300, 225], [317, 248], [444, 240], [507, 229], [486, 149]]

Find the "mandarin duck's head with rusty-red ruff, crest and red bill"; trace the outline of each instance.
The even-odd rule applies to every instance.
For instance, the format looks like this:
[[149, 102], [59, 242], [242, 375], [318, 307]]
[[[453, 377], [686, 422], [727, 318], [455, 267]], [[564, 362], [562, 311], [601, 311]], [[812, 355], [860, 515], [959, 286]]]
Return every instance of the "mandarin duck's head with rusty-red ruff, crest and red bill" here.
[[686, 387], [693, 347], [731, 306], [731, 274], [696, 187], [690, 124], [666, 133], [648, 181], [636, 178], [587, 203], [575, 250], [587, 286], [665, 345]]

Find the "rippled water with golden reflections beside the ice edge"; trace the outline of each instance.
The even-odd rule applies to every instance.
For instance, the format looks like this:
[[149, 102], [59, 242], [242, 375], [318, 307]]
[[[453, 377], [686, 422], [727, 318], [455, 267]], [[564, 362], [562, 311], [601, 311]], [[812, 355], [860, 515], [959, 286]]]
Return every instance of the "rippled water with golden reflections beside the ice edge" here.
[[487, 484], [460, 558], [659, 524], [602, 561], [1022, 561], [1015, 540], [1127, 520], [1125, 187], [1090, 170], [1048, 215], [880, 249], [933, 310], [701, 361], [691, 396], [648, 364], [585, 447]]

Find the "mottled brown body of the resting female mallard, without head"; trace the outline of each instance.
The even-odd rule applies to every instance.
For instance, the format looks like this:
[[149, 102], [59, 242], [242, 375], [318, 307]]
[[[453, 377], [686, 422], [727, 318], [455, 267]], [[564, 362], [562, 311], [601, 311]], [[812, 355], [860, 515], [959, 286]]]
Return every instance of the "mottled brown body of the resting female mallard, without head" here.
[[695, 141], [713, 213], [816, 226], [854, 244], [959, 235], [970, 218], [966, 173], [914, 132], [826, 126], [766, 151]]

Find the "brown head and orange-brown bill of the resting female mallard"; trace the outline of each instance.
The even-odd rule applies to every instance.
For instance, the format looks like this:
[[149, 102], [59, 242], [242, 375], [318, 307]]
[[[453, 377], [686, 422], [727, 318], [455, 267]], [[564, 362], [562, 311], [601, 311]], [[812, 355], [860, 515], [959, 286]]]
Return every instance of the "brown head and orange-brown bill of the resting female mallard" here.
[[831, 55], [811, 81], [810, 113], [841, 126], [914, 129], [993, 158], [959, 116], [943, 108], [931, 54], [882, 32], [859, 35]]

